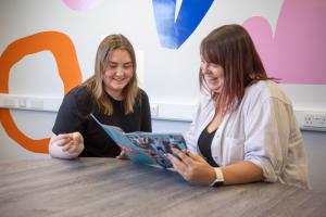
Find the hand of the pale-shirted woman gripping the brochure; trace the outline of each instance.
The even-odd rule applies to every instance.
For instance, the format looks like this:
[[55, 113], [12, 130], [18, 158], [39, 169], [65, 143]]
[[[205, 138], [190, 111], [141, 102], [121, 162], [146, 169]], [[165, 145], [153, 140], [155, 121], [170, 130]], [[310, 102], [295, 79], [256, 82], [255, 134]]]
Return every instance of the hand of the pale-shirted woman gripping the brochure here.
[[168, 154], [174, 168], [188, 181], [202, 184], [210, 184], [215, 180], [214, 168], [206, 163], [201, 156], [186, 153], [173, 148], [173, 154]]

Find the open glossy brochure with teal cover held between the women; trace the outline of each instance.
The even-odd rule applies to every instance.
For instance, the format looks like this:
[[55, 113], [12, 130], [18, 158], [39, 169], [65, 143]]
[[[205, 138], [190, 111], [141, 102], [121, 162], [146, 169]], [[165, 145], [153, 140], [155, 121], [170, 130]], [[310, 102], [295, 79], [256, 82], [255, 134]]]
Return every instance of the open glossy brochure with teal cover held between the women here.
[[90, 116], [105, 130], [115, 143], [125, 151], [135, 163], [159, 165], [172, 168], [167, 157], [172, 148], [186, 150], [186, 141], [180, 133], [124, 132], [121, 128], [100, 123], [92, 114]]

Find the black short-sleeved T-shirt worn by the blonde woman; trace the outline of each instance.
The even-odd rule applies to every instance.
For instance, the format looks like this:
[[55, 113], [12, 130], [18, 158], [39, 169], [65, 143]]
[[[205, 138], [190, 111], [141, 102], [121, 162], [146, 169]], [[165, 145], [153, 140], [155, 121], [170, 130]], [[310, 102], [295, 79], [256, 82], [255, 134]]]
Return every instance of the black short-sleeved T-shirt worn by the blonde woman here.
[[121, 149], [105, 133], [102, 127], [90, 117], [92, 113], [101, 123], [114, 125], [125, 132], [151, 131], [151, 114], [148, 95], [140, 90], [140, 101], [136, 101], [134, 113], [125, 115], [123, 101], [116, 101], [109, 94], [113, 114], [108, 116], [93, 102], [85, 86], [72, 89], [63, 99], [52, 131], [55, 135], [79, 131], [84, 137], [85, 149], [79, 156], [114, 157]]

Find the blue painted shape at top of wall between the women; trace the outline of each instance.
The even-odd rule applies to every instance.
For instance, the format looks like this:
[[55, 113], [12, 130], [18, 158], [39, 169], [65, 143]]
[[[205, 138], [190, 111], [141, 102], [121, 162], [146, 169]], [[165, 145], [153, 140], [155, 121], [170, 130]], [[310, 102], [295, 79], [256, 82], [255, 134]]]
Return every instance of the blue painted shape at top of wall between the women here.
[[153, 0], [161, 46], [178, 49], [200, 24], [214, 0], [184, 0], [175, 20], [176, 0]]

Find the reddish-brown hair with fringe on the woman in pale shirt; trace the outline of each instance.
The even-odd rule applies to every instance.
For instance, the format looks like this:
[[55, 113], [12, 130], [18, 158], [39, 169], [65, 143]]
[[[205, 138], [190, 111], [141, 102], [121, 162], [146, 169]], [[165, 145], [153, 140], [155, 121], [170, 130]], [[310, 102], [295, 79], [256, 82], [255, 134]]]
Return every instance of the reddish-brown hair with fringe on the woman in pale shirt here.
[[[235, 108], [241, 102], [248, 86], [272, 79], [266, 75], [250, 35], [240, 25], [225, 25], [214, 29], [202, 40], [200, 53], [205, 62], [218, 64], [224, 69], [221, 93], [211, 92], [217, 108]], [[209, 90], [201, 72], [199, 82], [201, 90]]]

